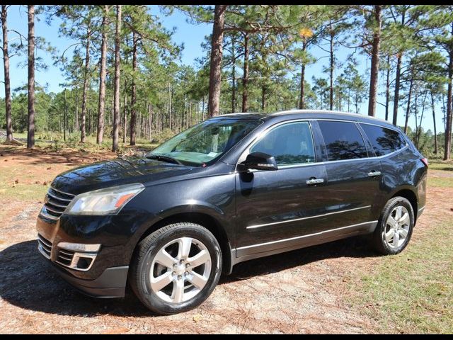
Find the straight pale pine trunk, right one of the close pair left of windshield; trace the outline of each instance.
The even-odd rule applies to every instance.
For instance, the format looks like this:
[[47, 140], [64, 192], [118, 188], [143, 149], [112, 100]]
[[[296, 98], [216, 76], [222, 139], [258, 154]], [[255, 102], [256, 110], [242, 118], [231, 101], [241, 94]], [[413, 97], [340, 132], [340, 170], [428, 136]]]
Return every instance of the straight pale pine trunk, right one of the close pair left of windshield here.
[[115, 30], [115, 94], [113, 107], [113, 145], [112, 151], [118, 150], [118, 132], [120, 128], [120, 33], [121, 33], [121, 6], [116, 6]]

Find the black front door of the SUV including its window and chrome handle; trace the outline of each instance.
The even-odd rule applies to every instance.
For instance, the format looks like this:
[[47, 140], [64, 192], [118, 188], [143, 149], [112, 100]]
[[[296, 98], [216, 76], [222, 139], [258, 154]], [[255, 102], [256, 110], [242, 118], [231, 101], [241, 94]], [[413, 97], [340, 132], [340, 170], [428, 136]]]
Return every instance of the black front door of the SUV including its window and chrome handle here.
[[326, 221], [326, 171], [316, 162], [311, 123], [270, 128], [250, 152], [272, 155], [278, 170], [236, 174], [238, 257], [294, 246]]

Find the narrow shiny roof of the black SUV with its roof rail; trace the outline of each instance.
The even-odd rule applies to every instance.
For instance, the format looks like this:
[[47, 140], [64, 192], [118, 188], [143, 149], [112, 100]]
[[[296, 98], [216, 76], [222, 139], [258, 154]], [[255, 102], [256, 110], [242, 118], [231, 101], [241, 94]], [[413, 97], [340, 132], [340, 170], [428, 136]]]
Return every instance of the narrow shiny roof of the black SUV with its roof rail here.
[[357, 113], [347, 113], [341, 111], [327, 111], [327, 110], [290, 110], [278, 111], [275, 113], [229, 113], [220, 115], [221, 117], [241, 117], [251, 119], [268, 120], [272, 118], [314, 118], [314, 119], [339, 119], [339, 120], [352, 120], [362, 123], [374, 123], [378, 125], [393, 126], [386, 120], [374, 118], [369, 115], [361, 115]]

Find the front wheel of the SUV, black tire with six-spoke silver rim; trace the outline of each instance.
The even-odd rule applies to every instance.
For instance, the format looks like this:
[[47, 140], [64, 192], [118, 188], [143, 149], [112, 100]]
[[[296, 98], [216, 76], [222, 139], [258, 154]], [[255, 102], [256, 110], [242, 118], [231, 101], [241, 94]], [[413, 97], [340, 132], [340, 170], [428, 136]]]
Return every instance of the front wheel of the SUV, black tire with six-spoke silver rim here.
[[201, 225], [175, 223], [138, 244], [129, 280], [135, 295], [149, 310], [169, 315], [192, 310], [204, 302], [221, 273], [222, 253], [214, 235]]

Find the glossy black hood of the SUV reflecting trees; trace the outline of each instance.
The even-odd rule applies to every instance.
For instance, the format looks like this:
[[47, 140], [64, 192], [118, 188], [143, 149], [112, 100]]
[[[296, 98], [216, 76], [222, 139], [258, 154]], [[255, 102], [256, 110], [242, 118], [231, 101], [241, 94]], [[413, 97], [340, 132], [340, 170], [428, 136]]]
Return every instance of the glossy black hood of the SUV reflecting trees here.
[[193, 168], [178, 164], [159, 162], [155, 159], [130, 157], [99, 162], [59, 174], [52, 188], [78, 195], [110, 186], [128, 183], [148, 184], [171, 179], [190, 172]]

